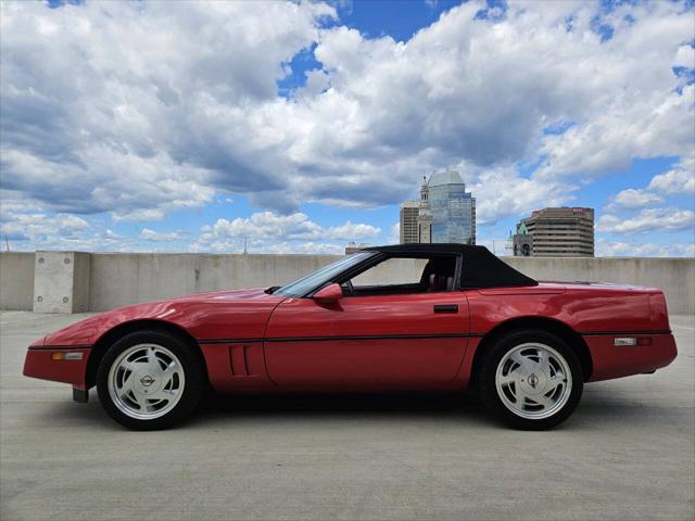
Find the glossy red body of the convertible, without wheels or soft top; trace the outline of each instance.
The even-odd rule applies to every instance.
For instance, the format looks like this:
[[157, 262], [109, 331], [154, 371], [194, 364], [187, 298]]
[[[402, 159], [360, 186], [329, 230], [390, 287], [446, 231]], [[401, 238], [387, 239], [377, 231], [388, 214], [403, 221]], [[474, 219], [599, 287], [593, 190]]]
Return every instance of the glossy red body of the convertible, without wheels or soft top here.
[[[434, 306], [445, 307], [442, 313]], [[650, 372], [677, 354], [664, 294], [654, 289], [557, 282], [352, 296], [333, 304], [241, 290], [87, 318], [34, 343], [24, 374], [85, 390], [92, 346], [113, 328], [147, 320], [194, 339], [211, 383], [222, 392], [465, 389], [485, 336], [510, 320], [529, 318], [561, 323], [581, 335], [593, 367], [589, 380]], [[648, 338], [650, 345], [615, 346], [621, 336]], [[63, 351], [84, 357], [52, 359]]]

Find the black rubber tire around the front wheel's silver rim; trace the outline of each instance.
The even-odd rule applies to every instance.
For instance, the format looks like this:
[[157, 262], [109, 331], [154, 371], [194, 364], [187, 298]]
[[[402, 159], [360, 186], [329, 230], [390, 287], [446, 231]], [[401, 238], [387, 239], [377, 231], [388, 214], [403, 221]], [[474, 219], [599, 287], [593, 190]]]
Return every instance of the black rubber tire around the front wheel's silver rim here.
[[[110, 371], [114, 363], [127, 350], [140, 344], [154, 344], [168, 350], [180, 361], [185, 382], [178, 402], [163, 416], [141, 419], [128, 416], [114, 403], [109, 390]], [[136, 431], [168, 429], [190, 416], [207, 389], [205, 367], [200, 356], [176, 334], [157, 330], [129, 333], [116, 341], [104, 354], [97, 370], [99, 401], [106, 414], [122, 425]]]

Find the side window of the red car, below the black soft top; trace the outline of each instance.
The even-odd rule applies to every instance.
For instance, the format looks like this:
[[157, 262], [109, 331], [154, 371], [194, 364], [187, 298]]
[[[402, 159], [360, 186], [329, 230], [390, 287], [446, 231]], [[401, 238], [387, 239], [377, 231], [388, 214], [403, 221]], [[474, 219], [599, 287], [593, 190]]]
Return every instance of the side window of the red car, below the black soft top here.
[[348, 296], [451, 291], [455, 274], [454, 255], [389, 257], [342, 285]]

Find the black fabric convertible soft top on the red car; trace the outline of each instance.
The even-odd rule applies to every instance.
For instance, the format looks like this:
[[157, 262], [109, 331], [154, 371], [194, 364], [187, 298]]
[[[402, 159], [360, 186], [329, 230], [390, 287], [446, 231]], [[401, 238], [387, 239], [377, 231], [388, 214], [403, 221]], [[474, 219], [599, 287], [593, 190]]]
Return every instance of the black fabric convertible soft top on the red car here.
[[519, 285], [539, 285], [539, 283], [517, 271], [508, 264], [493, 255], [485, 246], [469, 246], [468, 244], [392, 244], [389, 246], [365, 247], [365, 252], [383, 252], [391, 255], [409, 254], [454, 254], [462, 255], [464, 266], [462, 272], [462, 288], [509, 288]]

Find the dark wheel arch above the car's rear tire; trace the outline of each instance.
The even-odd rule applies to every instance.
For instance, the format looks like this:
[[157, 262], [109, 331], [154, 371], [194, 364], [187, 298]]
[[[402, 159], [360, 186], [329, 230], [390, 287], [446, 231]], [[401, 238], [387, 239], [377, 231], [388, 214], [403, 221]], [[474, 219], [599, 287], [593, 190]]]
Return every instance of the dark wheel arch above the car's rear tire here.
[[547, 331], [563, 339], [574, 351], [579, 361], [582, 365], [582, 372], [584, 381], [589, 381], [594, 370], [593, 360], [589, 346], [581, 334], [574, 331], [567, 323], [547, 317], [516, 317], [504, 322], [498, 323], [493, 329], [484, 334], [473, 356], [471, 366], [470, 381], [476, 382], [478, 377], [477, 371], [480, 366], [480, 360], [484, 353], [494, 345], [494, 343], [502, 336], [510, 333], [511, 331], [520, 331], [525, 329], [535, 329]]

